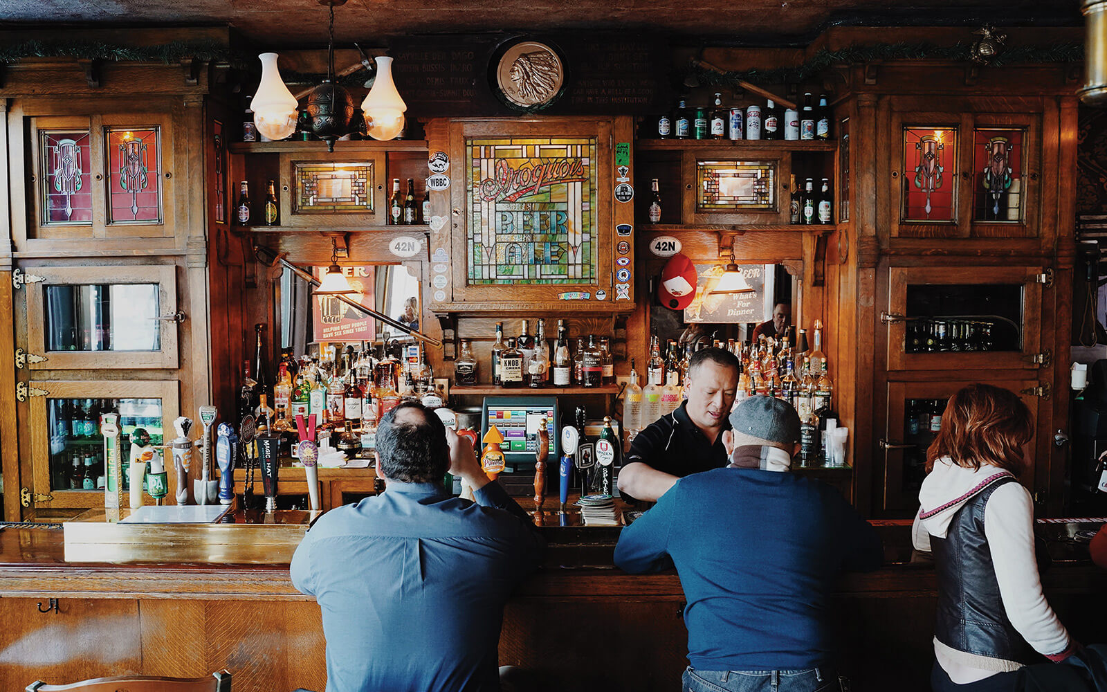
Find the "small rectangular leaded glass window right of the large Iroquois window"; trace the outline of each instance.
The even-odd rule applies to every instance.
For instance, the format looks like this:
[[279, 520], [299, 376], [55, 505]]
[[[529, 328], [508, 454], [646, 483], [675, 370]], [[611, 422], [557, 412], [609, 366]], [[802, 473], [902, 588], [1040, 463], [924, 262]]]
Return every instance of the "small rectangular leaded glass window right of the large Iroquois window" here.
[[764, 161], [697, 161], [700, 211], [772, 209], [776, 204], [776, 166]]

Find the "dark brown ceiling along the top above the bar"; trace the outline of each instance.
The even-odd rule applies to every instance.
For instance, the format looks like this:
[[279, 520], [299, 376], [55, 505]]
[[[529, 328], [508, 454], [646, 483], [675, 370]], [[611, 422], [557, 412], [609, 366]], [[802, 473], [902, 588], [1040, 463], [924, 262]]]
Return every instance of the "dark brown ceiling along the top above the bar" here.
[[[801, 44], [829, 25], [1078, 25], [1079, 0], [349, 0], [335, 38], [576, 29], [671, 32], [720, 44]], [[0, 27], [229, 23], [259, 45], [327, 42], [319, 0], [0, 0]]]

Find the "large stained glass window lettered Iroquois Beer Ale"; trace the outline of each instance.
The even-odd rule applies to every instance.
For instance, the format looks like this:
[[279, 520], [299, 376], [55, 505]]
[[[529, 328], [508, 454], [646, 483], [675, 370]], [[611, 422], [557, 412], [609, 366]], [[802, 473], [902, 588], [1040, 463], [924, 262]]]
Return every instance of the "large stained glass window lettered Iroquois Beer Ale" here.
[[596, 281], [594, 137], [467, 138], [469, 285]]

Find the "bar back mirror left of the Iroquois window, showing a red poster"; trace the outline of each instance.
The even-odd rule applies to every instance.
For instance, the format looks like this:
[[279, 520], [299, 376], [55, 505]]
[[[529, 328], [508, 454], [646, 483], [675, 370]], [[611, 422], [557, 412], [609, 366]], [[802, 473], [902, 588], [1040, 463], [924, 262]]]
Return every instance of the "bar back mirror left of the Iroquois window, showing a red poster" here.
[[[314, 267], [321, 277], [325, 267]], [[420, 267], [414, 265], [351, 265], [343, 267], [350, 299], [420, 330], [423, 301]], [[313, 296], [307, 281], [284, 269], [277, 283], [278, 321], [282, 349], [307, 352], [309, 343], [351, 343], [403, 338], [400, 330], [346, 306], [332, 296]]]

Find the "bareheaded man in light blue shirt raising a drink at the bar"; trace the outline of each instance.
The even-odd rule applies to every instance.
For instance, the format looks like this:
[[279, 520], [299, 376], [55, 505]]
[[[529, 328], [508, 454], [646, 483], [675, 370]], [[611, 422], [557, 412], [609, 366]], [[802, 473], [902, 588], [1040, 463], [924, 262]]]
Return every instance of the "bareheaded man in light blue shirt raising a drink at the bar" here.
[[[447, 466], [476, 504], [446, 493]], [[382, 417], [376, 473], [385, 492], [328, 512], [292, 557], [322, 609], [327, 692], [499, 690], [504, 603], [541, 554], [534, 524], [417, 403]]]

